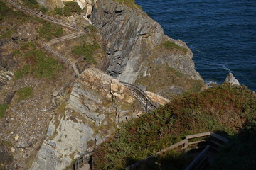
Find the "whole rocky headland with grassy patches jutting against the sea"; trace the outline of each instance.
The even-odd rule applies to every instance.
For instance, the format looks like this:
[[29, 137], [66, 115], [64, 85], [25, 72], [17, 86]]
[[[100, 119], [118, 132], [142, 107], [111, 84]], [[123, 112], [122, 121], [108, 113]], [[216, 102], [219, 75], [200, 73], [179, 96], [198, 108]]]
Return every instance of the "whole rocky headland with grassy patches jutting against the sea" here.
[[99, 0], [90, 19], [105, 40], [102, 69], [112, 77], [166, 98], [204, 86], [187, 45], [164, 35], [159, 23], [136, 5]]

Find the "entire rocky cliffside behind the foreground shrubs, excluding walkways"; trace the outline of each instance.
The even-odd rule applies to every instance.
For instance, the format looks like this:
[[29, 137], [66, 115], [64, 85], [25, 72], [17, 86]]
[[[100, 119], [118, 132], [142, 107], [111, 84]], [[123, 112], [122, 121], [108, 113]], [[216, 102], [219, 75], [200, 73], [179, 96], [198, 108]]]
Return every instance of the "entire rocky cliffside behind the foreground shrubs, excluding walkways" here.
[[[31, 169], [64, 169], [112, 136], [124, 122], [144, 113], [119, 80], [137, 84], [155, 101], [203, 87], [191, 50], [181, 40], [164, 35], [159, 23], [135, 4], [80, 2], [85, 11], [82, 16], [74, 14], [84, 18], [79, 26], [87, 26], [82, 20], [88, 17], [97, 29], [91, 27], [90, 34], [52, 47], [82, 70], [95, 65], [85, 61], [87, 56], [74, 55], [74, 47], [102, 45], [107, 57], [101, 50], [90, 54], [103, 71], [85, 69], [79, 79], [73, 77], [68, 64], [43, 50], [40, 40], [48, 40], [41, 29], [47, 22], [1, 8], [5, 26], [0, 43], [0, 104], [6, 111], [0, 116], [0, 145], [9, 148], [14, 169], [29, 169], [32, 163]], [[50, 8], [63, 6], [63, 1], [41, 3]], [[53, 25], [46, 34], [60, 30]], [[64, 35], [70, 33], [72, 30], [63, 28]], [[161, 98], [160, 102], [169, 100]]]

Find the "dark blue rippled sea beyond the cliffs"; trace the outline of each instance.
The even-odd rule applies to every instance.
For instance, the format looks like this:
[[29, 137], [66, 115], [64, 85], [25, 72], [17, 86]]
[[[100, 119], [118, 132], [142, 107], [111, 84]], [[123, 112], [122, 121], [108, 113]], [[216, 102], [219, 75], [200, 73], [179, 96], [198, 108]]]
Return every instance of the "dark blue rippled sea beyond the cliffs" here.
[[232, 72], [256, 91], [255, 0], [136, 0], [164, 33], [186, 42], [206, 83]]

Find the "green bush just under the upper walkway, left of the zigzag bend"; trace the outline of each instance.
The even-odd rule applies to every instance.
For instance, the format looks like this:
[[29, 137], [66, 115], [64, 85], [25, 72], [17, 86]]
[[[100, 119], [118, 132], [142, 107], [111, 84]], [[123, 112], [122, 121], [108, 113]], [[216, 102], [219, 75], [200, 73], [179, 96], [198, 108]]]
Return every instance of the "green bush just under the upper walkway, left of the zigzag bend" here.
[[43, 23], [43, 26], [38, 29], [39, 36], [51, 40], [53, 37], [63, 35], [63, 28], [58, 28], [52, 23]]

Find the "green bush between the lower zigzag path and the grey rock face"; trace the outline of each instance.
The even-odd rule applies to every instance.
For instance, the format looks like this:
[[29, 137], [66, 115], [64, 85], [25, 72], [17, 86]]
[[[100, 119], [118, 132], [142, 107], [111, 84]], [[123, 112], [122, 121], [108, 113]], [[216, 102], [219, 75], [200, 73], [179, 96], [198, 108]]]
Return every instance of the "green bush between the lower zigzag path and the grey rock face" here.
[[92, 45], [77, 45], [73, 47], [72, 52], [75, 55], [81, 55], [85, 57], [85, 62], [88, 62], [89, 64], [96, 64], [96, 61], [93, 57], [96, 50], [100, 49], [100, 45], [98, 45], [96, 42], [94, 42]]

